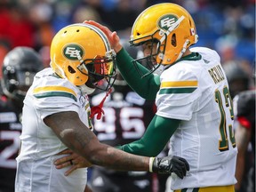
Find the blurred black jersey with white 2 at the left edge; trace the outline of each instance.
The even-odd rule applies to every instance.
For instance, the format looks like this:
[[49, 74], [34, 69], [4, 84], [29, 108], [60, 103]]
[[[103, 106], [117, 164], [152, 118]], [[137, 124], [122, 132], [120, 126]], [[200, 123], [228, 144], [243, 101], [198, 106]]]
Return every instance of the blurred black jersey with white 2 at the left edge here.
[[16, 156], [20, 148], [20, 107], [4, 96], [0, 100], [0, 191], [14, 191]]

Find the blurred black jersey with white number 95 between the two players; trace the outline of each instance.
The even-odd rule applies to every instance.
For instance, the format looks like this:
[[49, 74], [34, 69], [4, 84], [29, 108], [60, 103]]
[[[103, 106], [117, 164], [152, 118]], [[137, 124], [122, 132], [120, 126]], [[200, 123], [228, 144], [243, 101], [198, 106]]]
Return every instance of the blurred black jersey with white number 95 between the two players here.
[[[105, 92], [92, 96], [92, 106], [100, 103]], [[105, 100], [104, 116], [94, 119], [98, 139], [111, 146], [123, 145], [142, 137], [155, 116], [155, 102], [141, 98], [131, 89], [116, 89]]]

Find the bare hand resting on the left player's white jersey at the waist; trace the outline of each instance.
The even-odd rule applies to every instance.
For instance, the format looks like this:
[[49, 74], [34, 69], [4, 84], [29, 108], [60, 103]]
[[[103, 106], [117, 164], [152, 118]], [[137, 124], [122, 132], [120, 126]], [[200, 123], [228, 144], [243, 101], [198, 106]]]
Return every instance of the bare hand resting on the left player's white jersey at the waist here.
[[58, 155], [67, 154], [68, 156], [60, 157], [54, 161], [56, 169], [62, 169], [70, 166], [65, 175], [68, 176], [71, 172], [74, 172], [78, 168], [90, 167], [92, 164], [88, 162], [83, 156], [79, 156], [70, 149], [66, 149], [60, 152]]

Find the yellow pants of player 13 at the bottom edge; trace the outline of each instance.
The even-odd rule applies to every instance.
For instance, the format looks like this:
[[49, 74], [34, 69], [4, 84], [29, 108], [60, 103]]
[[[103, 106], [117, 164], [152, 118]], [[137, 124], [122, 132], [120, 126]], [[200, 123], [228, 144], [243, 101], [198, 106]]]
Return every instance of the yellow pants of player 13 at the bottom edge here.
[[234, 185], [230, 186], [215, 186], [208, 188], [183, 188], [174, 190], [174, 192], [235, 192]]

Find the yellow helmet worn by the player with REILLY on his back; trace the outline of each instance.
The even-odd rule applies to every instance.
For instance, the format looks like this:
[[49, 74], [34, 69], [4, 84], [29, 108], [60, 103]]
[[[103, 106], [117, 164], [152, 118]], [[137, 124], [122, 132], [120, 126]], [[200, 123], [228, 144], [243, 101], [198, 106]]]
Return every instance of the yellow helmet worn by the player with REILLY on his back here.
[[[172, 65], [179, 60], [197, 40], [191, 15], [178, 4], [163, 3], [152, 5], [140, 13], [132, 26], [130, 43], [134, 46], [148, 41], [157, 44], [156, 52], [151, 50], [151, 55], [137, 59], [147, 60], [152, 73], [159, 64]], [[152, 64], [152, 60], [156, 60], [156, 64]]]

